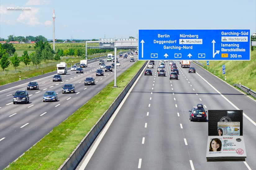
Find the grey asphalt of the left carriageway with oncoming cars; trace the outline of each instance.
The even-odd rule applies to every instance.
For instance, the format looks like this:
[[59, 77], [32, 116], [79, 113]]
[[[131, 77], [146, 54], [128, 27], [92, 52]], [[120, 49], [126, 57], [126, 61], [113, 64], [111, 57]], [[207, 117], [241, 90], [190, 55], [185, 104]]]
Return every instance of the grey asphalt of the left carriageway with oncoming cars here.
[[[136, 61], [137, 61], [137, 56]], [[127, 70], [134, 62], [119, 58], [117, 76]], [[107, 62], [111, 65], [113, 62]], [[68, 71], [62, 75], [62, 82], [52, 82], [56, 72], [10, 83], [1, 87], [0, 91], [0, 169], [17, 159], [36, 142], [59, 125], [89, 99], [101, 91], [114, 79], [113, 72], [104, 72], [104, 76], [95, 76], [99, 69], [99, 60], [90, 63], [84, 69], [84, 74]], [[104, 70], [104, 69], [103, 69]], [[84, 79], [92, 76], [96, 85], [84, 86]], [[26, 90], [29, 81], [37, 81], [39, 90], [29, 90], [29, 104], [13, 104], [13, 94], [17, 90]], [[74, 94], [62, 94], [64, 84], [74, 84]], [[118, 85], [118, 84], [117, 84]], [[43, 94], [47, 90], [58, 93], [57, 102], [43, 102]]]

